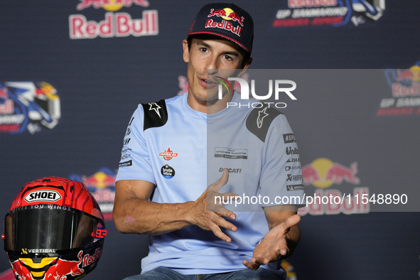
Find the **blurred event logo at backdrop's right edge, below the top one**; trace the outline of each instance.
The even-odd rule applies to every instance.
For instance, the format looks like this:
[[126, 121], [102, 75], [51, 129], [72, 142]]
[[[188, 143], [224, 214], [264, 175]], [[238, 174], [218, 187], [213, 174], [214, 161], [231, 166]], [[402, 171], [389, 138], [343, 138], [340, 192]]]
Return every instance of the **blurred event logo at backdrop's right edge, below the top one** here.
[[377, 110], [378, 117], [420, 114], [420, 61], [409, 69], [385, 69], [389, 95]]

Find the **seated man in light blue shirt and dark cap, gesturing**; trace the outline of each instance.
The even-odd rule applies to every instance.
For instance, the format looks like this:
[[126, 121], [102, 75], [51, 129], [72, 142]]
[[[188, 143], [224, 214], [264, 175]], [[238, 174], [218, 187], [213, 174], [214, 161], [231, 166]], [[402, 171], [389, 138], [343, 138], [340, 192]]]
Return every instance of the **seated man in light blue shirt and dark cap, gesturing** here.
[[[252, 63], [253, 37], [246, 11], [205, 5], [183, 41], [188, 92], [140, 104], [131, 117], [113, 217], [119, 232], [151, 236], [141, 275], [129, 279], [286, 276], [279, 259], [300, 238], [296, 206], [271, 201], [239, 209], [220, 203], [303, 195], [301, 188], [286, 190], [291, 156], [284, 151], [297, 146], [281, 136], [293, 135], [284, 115], [266, 107], [264, 115], [252, 107], [229, 109], [227, 102], [241, 102], [239, 94], [225, 89], [218, 95], [220, 80], [242, 75]], [[293, 158], [299, 173], [298, 155]]]

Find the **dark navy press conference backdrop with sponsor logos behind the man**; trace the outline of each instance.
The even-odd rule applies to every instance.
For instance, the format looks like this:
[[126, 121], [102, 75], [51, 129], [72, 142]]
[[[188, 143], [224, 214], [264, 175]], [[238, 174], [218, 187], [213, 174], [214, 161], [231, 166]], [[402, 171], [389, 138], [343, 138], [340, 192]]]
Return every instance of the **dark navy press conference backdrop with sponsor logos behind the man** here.
[[[188, 89], [181, 42], [207, 3], [2, 5], [0, 213], [28, 181], [84, 182], [108, 230], [99, 264], [85, 279], [141, 271], [147, 236], [119, 234], [112, 222], [122, 141], [137, 104]], [[306, 191], [352, 195], [338, 206], [300, 210], [301, 242], [284, 263], [289, 279], [419, 279], [420, 215], [416, 207], [394, 208], [394, 198], [399, 206], [419, 203], [420, 1], [237, 4], [255, 22], [253, 69], [315, 71], [311, 82], [294, 72], [297, 100], [281, 109], [298, 142]], [[365, 205], [357, 194], [397, 196]], [[0, 279], [10, 275], [6, 254], [0, 272]]]

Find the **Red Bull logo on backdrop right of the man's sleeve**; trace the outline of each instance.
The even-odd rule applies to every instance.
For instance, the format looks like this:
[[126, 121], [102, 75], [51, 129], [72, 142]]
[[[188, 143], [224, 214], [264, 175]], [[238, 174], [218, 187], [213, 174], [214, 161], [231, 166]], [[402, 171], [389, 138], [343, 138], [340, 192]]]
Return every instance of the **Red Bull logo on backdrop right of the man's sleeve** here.
[[[345, 166], [328, 158], [317, 158], [302, 167], [304, 185], [313, 185], [313, 195], [308, 195], [305, 208], [299, 209], [300, 215], [362, 214], [370, 212], [369, 204], [362, 198], [369, 195], [369, 188], [356, 187], [357, 162]], [[343, 190], [330, 188], [333, 185], [345, 185]], [[348, 187], [350, 185], [350, 187]]]

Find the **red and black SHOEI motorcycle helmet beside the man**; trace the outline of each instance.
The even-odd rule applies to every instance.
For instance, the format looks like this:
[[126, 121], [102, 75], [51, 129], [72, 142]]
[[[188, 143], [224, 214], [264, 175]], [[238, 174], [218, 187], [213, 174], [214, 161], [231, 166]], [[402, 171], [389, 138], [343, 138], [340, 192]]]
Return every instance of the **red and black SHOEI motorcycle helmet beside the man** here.
[[4, 220], [4, 249], [16, 279], [80, 279], [95, 269], [107, 234], [83, 183], [46, 177], [26, 183]]

